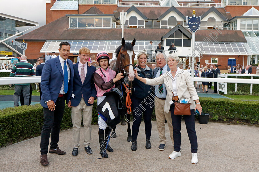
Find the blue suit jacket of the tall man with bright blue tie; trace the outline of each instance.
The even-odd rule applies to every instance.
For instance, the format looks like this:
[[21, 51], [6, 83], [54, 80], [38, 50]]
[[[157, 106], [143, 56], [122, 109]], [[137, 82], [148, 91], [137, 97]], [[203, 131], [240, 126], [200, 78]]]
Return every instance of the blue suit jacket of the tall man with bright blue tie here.
[[[66, 93], [66, 101], [68, 104], [69, 98], [72, 94], [73, 89], [73, 77], [74, 69], [73, 62], [67, 59], [68, 65], [70, 67], [70, 80], [68, 83], [68, 92]], [[58, 99], [60, 89], [64, 82], [64, 74], [60, 64], [59, 56], [57, 58], [52, 58], [45, 62], [42, 70], [40, 87], [42, 91], [42, 97], [40, 104], [47, 108], [47, 103], [45, 101], [52, 100], [56, 102]]]

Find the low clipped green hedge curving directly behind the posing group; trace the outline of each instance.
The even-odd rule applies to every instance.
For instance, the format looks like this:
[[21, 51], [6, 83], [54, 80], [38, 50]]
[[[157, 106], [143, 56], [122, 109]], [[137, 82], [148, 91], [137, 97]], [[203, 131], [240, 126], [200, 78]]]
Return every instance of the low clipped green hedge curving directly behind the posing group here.
[[[243, 120], [259, 123], [259, 101], [234, 101], [201, 97], [203, 112], [210, 120]], [[93, 105], [92, 125], [98, 124], [97, 102]], [[155, 120], [153, 111], [152, 120]], [[39, 136], [43, 125], [43, 108], [40, 104], [10, 107], [0, 110], [0, 148], [31, 137]], [[71, 108], [66, 106], [60, 130], [72, 128]]]

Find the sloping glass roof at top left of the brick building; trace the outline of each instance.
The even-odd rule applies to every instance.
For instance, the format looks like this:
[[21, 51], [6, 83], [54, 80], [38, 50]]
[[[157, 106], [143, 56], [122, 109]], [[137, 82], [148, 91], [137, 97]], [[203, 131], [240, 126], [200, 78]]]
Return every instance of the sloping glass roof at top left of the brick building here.
[[78, 10], [78, 0], [56, 0], [51, 10]]

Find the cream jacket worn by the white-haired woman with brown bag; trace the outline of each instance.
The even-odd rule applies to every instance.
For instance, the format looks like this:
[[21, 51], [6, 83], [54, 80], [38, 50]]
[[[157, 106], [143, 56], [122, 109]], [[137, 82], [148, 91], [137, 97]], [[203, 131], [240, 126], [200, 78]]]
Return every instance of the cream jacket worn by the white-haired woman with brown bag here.
[[[193, 81], [191, 80], [191, 76], [186, 70], [178, 68], [177, 71], [179, 72], [176, 79], [177, 95], [179, 97], [178, 102], [180, 102], [181, 99], [188, 99], [188, 102], [191, 103], [191, 109], [195, 109], [195, 100], [199, 100], [199, 97], [193, 85]], [[172, 100], [173, 97], [172, 75], [170, 76], [170, 74], [171, 70], [168, 73], [159, 76], [158, 78], [146, 78], [146, 84], [148, 85], [165, 84], [165, 87], [167, 89], [167, 97], [164, 111], [167, 113], [169, 112], [171, 106], [169, 102]]]

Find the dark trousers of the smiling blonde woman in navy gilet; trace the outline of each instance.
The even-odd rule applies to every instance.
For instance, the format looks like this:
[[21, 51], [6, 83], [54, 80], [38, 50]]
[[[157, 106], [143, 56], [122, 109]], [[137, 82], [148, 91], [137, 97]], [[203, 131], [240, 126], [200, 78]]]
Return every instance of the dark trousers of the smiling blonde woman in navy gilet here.
[[150, 139], [152, 128], [151, 116], [154, 109], [154, 97], [152, 97], [152, 95], [146, 97], [146, 99], [131, 97], [131, 101], [131, 107], [134, 116], [134, 122], [132, 124], [132, 140], [137, 140], [142, 114], [145, 123], [146, 138]]

